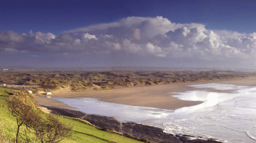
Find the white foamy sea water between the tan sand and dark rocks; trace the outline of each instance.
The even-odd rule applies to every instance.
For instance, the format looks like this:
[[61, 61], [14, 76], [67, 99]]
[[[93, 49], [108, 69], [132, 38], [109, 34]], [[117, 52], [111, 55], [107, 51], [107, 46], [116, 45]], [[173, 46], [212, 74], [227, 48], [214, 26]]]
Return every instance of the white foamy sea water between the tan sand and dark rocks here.
[[96, 98], [53, 98], [88, 114], [114, 116], [126, 122], [154, 125], [164, 132], [217, 138], [224, 142], [256, 142], [256, 87], [232, 84], [190, 85], [194, 88], [232, 90], [229, 93], [189, 90], [174, 97], [204, 101], [200, 105], [176, 110], [128, 106]]

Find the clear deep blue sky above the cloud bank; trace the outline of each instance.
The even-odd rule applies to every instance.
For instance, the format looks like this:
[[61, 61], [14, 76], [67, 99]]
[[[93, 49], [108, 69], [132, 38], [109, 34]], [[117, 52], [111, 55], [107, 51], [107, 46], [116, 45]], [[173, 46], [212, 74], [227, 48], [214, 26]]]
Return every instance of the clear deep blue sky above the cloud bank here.
[[175, 23], [205, 24], [207, 29], [256, 31], [254, 1], [3, 2], [1, 30], [19, 33], [32, 30], [59, 34], [129, 16], [163, 16]]

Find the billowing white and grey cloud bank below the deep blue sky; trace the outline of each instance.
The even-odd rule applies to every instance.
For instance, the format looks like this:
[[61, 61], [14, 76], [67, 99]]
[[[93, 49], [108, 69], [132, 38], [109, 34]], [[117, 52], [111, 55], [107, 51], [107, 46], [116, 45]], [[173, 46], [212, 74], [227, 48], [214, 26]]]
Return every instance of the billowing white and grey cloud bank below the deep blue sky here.
[[34, 56], [35, 53], [103, 53], [112, 56], [122, 53], [163, 60], [256, 61], [255, 32], [212, 31], [203, 24], [173, 23], [162, 16], [128, 17], [114, 23], [63, 31], [59, 36], [32, 31], [29, 34], [0, 31], [0, 51], [33, 53]]

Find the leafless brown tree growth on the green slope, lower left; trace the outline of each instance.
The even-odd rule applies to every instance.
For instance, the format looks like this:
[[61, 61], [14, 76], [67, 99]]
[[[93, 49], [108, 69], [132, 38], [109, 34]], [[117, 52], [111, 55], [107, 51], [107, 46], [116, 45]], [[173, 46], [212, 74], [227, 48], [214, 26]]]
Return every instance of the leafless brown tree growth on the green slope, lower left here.
[[[26, 125], [27, 131], [33, 133], [36, 136], [36, 141], [42, 143], [60, 142], [65, 137], [72, 135], [73, 127], [61, 123], [52, 115], [47, 115], [46, 119], [42, 118], [33, 107], [26, 105], [15, 96], [10, 96], [6, 101], [11, 114], [16, 117], [18, 126], [16, 143], [18, 142], [19, 130], [22, 125]], [[27, 131], [25, 130], [25, 137], [20, 137], [26, 142], [31, 142], [32, 140], [27, 136]]]

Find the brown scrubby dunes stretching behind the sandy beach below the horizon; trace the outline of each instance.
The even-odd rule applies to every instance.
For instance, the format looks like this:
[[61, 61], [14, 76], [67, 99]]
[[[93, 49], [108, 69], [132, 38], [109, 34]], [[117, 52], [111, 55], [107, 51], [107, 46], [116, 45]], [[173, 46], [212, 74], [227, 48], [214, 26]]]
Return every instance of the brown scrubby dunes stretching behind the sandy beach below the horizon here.
[[[163, 85], [255, 76], [255, 72], [177, 71], [177, 72], [0, 72], [0, 84], [40, 85], [33, 93], [69, 88], [73, 91], [102, 90], [131, 86]], [[0, 93], [1, 94], [1, 93]]]

